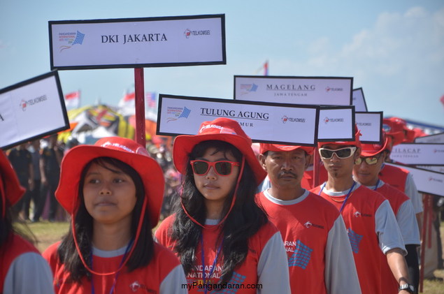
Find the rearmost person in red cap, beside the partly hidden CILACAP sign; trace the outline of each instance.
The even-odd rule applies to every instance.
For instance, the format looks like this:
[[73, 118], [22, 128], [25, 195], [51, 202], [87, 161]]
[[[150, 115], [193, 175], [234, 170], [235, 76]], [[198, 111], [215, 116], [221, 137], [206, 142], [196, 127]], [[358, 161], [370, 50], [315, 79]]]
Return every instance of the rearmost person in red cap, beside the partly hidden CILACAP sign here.
[[[389, 154], [392, 151], [394, 145], [401, 144], [406, 136], [404, 134], [405, 122], [402, 119], [392, 117], [390, 119], [383, 119], [383, 131], [389, 141], [384, 147], [386, 152], [385, 161], [390, 162]], [[405, 128], [407, 128], [405, 126]], [[397, 166], [389, 166], [386, 164], [382, 165], [379, 173], [379, 178], [382, 179], [387, 184], [394, 186], [401, 192], [406, 193], [410, 198], [413, 205], [413, 210], [415, 210], [416, 221], [421, 232], [422, 226], [422, 212], [424, 208], [422, 207], [422, 196], [418, 193], [415, 182], [410, 172], [404, 168], [399, 168]]]

